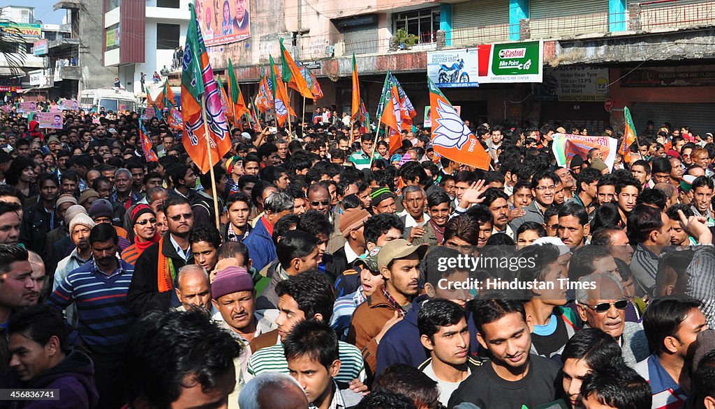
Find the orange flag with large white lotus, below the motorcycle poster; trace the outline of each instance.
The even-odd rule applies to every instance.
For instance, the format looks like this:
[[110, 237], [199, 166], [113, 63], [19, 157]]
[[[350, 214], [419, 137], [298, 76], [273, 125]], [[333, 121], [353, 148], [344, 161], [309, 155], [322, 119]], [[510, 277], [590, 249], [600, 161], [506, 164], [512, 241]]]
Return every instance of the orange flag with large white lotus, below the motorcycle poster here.
[[432, 110], [432, 147], [435, 153], [457, 163], [489, 170], [491, 158], [465, 125], [450, 101], [427, 79]]

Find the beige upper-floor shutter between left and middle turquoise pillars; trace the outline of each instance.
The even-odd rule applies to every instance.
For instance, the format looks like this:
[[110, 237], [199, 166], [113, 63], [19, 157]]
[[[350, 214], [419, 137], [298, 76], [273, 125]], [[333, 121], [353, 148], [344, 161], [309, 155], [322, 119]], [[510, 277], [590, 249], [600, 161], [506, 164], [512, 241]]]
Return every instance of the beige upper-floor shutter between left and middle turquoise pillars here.
[[509, 1], [471, 0], [452, 6], [452, 45], [506, 41], [509, 39]]

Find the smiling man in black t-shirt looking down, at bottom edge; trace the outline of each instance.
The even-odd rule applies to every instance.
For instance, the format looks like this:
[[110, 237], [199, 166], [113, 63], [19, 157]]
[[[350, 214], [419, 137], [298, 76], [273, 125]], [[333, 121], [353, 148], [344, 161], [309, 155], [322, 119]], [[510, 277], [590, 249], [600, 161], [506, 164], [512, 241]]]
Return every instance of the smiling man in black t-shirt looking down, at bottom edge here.
[[479, 408], [536, 408], [556, 398], [558, 363], [529, 353], [531, 317], [521, 301], [482, 299], [473, 307], [477, 340], [491, 360], [460, 383], [449, 408], [471, 403]]

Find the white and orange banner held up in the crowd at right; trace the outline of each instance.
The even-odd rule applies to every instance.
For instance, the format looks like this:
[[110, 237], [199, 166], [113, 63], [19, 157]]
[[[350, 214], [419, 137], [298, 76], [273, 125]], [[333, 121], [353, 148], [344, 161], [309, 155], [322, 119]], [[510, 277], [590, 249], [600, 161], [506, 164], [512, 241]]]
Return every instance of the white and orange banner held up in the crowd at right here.
[[570, 133], [555, 133], [553, 135], [553, 145], [551, 150], [556, 156], [558, 166], [566, 166], [571, 163], [573, 156], [579, 155], [586, 158], [588, 151], [593, 148], [601, 149], [603, 162], [608, 169], [613, 171], [613, 163], [616, 161], [616, 149], [618, 140], [609, 136], [581, 136]]

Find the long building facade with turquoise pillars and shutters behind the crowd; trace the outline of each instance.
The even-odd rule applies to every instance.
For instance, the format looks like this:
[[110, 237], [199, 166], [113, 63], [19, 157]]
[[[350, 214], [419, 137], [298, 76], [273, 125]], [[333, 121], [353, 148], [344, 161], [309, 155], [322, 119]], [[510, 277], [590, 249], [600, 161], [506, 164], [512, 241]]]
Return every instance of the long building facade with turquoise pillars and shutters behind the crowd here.
[[[229, 0], [233, 1], [233, 0]], [[484, 44], [541, 41], [543, 81], [483, 83], [443, 89], [463, 118], [510, 126], [560, 123], [601, 133], [622, 126], [629, 106], [638, 128], [646, 121], [715, 128], [715, 2], [710, 0], [246, 0], [250, 37], [209, 47], [212, 67], [225, 74], [230, 58], [245, 94], [279, 40], [313, 68], [325, 97], [350, 105], [352, 54], [361, 96], [375, 111], [385, 73], [403, 84], [420, 115], [428, 105], [430, 53]], [[296, 111], [302, 101], [294, 99]], [[307, 101], [307, 112], [315, 106]]]

